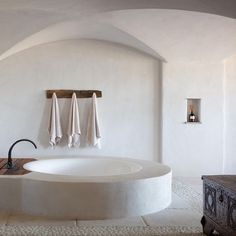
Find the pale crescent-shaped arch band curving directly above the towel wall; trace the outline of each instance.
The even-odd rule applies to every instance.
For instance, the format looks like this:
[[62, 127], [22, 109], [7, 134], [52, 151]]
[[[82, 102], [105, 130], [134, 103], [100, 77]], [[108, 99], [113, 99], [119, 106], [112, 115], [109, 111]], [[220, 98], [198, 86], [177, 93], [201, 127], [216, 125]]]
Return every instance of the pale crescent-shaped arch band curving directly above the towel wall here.
[[99, 23], [95, 19], [85, 22], [67, 21], [46, 27], [15, 44], [12, 48], [0, 55], [0, 60], [40, 44], [70, 39], [97, 39], [119, 43], [133, 47], [164, 62], [166, 61], [156, 51], [128, 32], [111, 24]]

